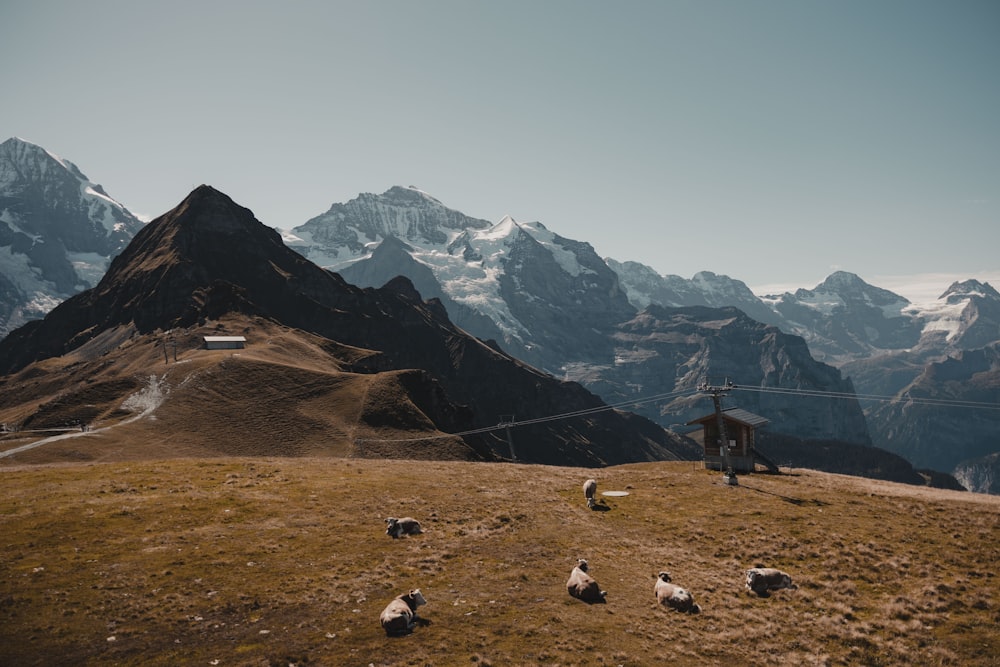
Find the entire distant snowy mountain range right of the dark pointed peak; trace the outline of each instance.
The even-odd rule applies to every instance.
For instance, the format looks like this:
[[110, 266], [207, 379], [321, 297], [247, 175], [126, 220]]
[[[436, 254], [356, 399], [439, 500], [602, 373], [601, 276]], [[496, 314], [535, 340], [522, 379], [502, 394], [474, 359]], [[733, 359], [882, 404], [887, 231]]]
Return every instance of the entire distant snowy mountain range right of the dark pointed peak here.
[[931, 308], [843, 272], [757, 297], [727, 276], [601, 258], [538, 222], [466, 216], [414, 187], [281, 233], [352, 285], [406, 276], [404, 292], [490, 349], [675, 431], [710, 409], [699, 384], [729, 378], [726, 400], [765, 415], [775, 443], [874, 444], [944, 472], [1000, 451], [998, 415], [981, 408], [1000, 386], [988, 284], [956, 283]]

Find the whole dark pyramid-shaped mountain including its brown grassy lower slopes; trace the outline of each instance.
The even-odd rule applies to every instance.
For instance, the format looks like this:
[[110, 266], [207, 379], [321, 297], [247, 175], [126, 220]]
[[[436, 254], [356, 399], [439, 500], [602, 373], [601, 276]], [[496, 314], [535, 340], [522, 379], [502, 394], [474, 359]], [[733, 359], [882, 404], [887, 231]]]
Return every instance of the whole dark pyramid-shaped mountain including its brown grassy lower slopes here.
[[[200, 349], [219, 333], [249, 338], [248, 351]], [[96, 422], [113, 438], [130, 397], [169, 395], [132, 438], [182, 450], [203, 439], [215, 453], [583, 466], [697, 451], [468, 335], [405, 278], [348, 284], [209, 186], [143, 227], [97, 286], [0, 341], [0, 375], [0, 418], [19, 431]], [[550, 419], [569, 413], [583, 414]], [[505, 415], [527, 422], [516, 453]]]

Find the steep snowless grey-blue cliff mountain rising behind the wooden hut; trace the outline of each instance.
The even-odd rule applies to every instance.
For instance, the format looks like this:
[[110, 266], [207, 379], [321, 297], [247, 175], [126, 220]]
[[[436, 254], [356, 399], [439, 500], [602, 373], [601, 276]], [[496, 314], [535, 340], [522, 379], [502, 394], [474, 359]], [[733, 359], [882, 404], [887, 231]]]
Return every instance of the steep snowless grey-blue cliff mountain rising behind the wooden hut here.
[[706, 379], [728, 378], [736, 390], [727, 404], [766, 416], [768, 430], [871, 444], [850, 381], [814, 360], [798, 336], [752, 320], [738, 309], [650, 306], [619, 325], [614, 342], [613, 364], [580, 365], [574, 372], [611, 403], [665, 395], [660, 402], [636, 408], [661, 423], [681, 425], [711, 412], [711, 401], [691, 392]]

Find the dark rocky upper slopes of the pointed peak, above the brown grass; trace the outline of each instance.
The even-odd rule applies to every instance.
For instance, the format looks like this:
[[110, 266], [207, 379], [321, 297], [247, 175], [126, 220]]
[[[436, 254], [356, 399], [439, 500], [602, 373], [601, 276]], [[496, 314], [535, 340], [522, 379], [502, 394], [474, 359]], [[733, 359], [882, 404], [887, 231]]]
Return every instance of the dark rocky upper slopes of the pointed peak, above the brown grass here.
[[[578, 384], [558, 381], [469, 336], [405, 279], [381, 289], [349, 285], [288, 249], [250, 210], [208, 186], [140, 230], [97, 287], [0, 341], [0, 373], [8, 376], [0, 403], [17, 412], [11, 406], [26, 400], [19, 398], [26, 378], [62, 355], [101, 367], [102, 357], [126, 344], [155, 345], [166, 331], [190, 338], [234, 316], [280, 324], [349, 351], [337, 355], [331, 370], [392, 374], [396, 388], [362, 411], [383, 415], [389, 440], [399, 439], [394, 434], [495, 427], [505, 415], [527, 420], [595, 410], [584, 419], [519, 427], [525, 444], [518, 458], [592, 466], [677, 458], [690, 447], [645, 419], [601, 410], [601, 401]], [[417, 373], [399, 375], [403, 371]], [[272, 408], [260, 399], [258, 384], [240, 383], [233, 390], [253, 410], [266, 412]], [[402, 403], [426, 409], [394, 408]], [[481, 456], [509, 455], [503, 431], [464, 439]], [[398, 446], [394, 451], [400, 453]]]

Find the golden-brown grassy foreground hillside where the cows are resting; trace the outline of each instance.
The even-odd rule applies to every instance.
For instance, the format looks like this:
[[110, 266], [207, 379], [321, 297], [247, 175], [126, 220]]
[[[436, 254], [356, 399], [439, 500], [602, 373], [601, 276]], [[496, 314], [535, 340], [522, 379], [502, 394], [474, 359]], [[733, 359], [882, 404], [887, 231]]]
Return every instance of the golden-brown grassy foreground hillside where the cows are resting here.
[[[625, 490], [591, 511], [581, 485]], [[0, 664], [991, 665], [1000, 498], [805, 470], [215, 458], [0, 468]], [[386, 516], [425, 534], [392, 540]], [[607, 604], [571, 599], [577, 558]], [[745, 592], [743, 570], [798, 590]], [[658, 571], [703, 611], [658, 608]], [[426, 623], [378, 615], [420, 588]]]

